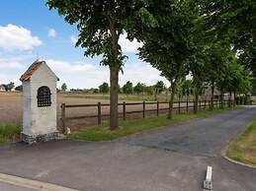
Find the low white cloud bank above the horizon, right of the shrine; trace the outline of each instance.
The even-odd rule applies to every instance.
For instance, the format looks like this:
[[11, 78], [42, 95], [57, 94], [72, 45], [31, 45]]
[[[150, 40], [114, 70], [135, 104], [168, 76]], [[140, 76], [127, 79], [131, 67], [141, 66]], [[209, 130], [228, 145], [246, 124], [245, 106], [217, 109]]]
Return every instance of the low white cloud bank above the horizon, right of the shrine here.
[[[103, 82], [110, 84], [110, 71], [108, 67], [100, 65], [94, 66], [81, 62], [69, 63], [52, 59], [45, 60], [45, 62], [60, 79], [58, 86], [66, 83], [70, 89], [89, 89], [97, 88]], [[127, 63], [124, 72], [124, 75], [120, 73], [119, 84], [121, 86], [124, 86], [128, 81], [130, 81], [133, 86], [138, 82], [150, 86], [160, 80], [162, 80], [165, 85], [169, 86], [169, 82], [165, 78], [160, 77], [158, 70], [143, 62], [137, 62], [135, 64]]]

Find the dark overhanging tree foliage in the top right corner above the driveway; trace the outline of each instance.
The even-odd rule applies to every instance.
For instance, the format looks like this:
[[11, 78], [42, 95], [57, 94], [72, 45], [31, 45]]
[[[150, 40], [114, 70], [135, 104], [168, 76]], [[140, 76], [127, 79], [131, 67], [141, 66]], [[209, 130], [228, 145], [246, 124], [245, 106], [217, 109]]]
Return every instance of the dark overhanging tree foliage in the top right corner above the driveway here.
[[[218, 40], [228, 37], [234, 49], [240, 51], [239, 57], [243, 53], [248, 56], [248, 47], [255, 47], [256, 1], [198, 0], [196, 2], [201, 8], [207, 32], [216, 35]], [[251, 50], [253, 51], [253, 48]], [[245, 64], [255, 71], [255, 61]]]

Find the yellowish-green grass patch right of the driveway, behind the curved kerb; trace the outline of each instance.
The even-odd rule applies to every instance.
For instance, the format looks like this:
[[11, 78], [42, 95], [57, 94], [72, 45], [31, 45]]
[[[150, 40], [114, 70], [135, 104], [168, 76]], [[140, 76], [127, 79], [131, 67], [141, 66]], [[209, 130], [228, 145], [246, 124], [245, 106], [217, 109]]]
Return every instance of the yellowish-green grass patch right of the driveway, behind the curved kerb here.
[[229, 146], [227, 156], [243, 163], [256, 165], [256, 119]]

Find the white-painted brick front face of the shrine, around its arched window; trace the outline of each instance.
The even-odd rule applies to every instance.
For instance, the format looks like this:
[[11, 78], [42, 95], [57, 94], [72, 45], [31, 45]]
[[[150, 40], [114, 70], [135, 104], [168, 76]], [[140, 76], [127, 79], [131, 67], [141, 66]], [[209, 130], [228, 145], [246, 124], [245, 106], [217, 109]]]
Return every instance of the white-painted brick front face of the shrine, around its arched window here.
[[[32, 75], [31, 83], [31, 129], [30, 135], [39, 135], [56, 132], [56, 81], [57, 78], [42, 64]], [[51, 105], [38, 107], [38, 90], [46, 86], [51, 93]]]

